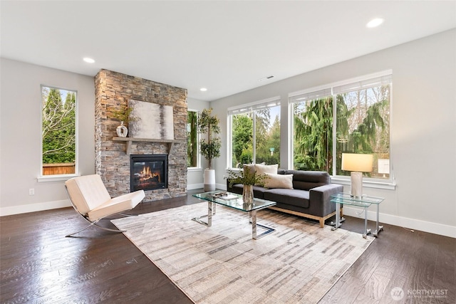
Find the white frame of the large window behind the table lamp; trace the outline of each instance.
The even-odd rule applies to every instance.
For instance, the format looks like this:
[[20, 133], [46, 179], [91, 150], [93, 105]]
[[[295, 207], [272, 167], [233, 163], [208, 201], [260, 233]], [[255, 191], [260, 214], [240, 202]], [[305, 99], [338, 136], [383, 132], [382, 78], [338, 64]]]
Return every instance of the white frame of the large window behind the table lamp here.
[[[336, 139], [336, 134], [337, 134], [337, 119], [336, 119], [336, 108], [337, 108], [337, 103], [336, 103], [336, 98], [337, 95], [340, 93], [335, 93], [334, 88], [341, 87], [343, 85], [351, 85], [353, 83], [362, 83], [364, 80], [370, 80], [373, 78], [383, 78], [383, 77], [388, 77], [390, 78], [390, 104], [389, 104], [389, 118], [390, 118], [390, 125], [393, 122], [393, 70], [383, 70], [378, 73], [372, 73], [368, 75], [363, 75], [359, 76], [356, 78], [349, 78], [346, 80], [341, 80], [336, 83], [329, 83], [327, 85], [320, 85], [314, 88], [308, 88], [305, 90], [299, 90], [293, 93], [289, 93], [288, 96], [288, 111], [289, 111], [289, 137], [288, 137], [288, 147], [289, 147], [289, 161], [288, 161], [288, 167], [293, 168], [294, 166], [294, 136], [291, 136], [294, 134], [293, 130], [293, 123], [294, 123], [294, 116], [293, 116], [293, 104], [296, 103], [296, 98], [299, 95], [309, 95], [309, 96], [314, 96], [315, 98], [318, 97], [318, 93], [321, 92], [326, 92], [328, 93], [331, 91], [331, 95], [333, 98], [333, 134], [332, 134], [332, 150], [333, 150], [333, 155], [332, 155], [332, 161], [333, 161], [333, 168], [331, 172], [331, 181], [332, 182], [337, 182], [339, 184], [350, 184], [350, 176], [345, 176], [345, 175], [337, 175], [336, 174], [336, 157], [337, 157], [337, 139]], [[380, 84], [381, 85], [381, 84]], [[356, 89], [353, 89], [353, 91]], [[328, 96], [328, 95], [325, 95]], [[388, 179], [378, 179], [378, 178], [371, 178], [371, 177], [363, 177], [363, 186], [364, 187], [371, 187], [371, 188], [379, 188], [379, 189], [395, 189], [395, 177], [394, 177], [394, 171], [393, 171], [393, 147], [391, 145], [392, 142], [392, 135], [391, 135], [391, 130], [389, 132], [389, 169], [390, 169], [390, 176]]]

